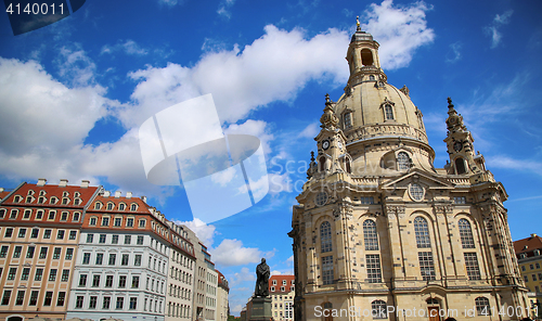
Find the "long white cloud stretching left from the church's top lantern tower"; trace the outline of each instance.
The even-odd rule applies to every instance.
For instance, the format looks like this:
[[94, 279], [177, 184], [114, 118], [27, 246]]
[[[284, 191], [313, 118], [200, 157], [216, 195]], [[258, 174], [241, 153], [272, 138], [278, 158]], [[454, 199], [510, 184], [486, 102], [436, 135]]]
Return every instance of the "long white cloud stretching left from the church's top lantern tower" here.
[[129, 76], [139, 81], [132, 105], [119, 113], [127, 127], [139, 126], [156, 112], [178, 102], [211, 93], [222, 121], [245, 118], [273, 101], [291, 101], [311, 79], [344, 84], [348, 35], [330, 29], [306, 39], [305, 31], [268, 25], [266, 34], [241, 51], [208, 52], [193, 67], [147, 66]]

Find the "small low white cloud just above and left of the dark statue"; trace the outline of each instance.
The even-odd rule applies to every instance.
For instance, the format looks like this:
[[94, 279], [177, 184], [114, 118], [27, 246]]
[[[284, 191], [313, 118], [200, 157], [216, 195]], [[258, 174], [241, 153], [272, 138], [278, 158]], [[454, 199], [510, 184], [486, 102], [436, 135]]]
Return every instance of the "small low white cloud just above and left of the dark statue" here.
[[240, 240], [224, 239], [216, 248], [209, 249], [212, 260], [220, 266], [232, 267], [260, 261], [262, 252], [256, 247], [244, 247]]

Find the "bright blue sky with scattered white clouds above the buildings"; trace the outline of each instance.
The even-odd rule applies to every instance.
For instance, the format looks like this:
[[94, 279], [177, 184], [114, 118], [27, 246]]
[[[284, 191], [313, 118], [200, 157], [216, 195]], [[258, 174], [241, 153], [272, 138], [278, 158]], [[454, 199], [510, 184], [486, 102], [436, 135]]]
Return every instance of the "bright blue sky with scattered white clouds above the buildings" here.
[[[509, 194], [514, 240], [540, 233], [542, 3], [530, 1], [88, 0], [59, 23], [13, 36], [0, 14], [0, 187], [90, 179], [149, 196], [190, 221], [230, 280], [238, 313], [267, 257], [292, 273], [292, 205], [324, 107], [348, 78], [360, 16], [380, 43], [388, 82], [424, 113], [436, 167], [448, 159], [448, 97], [475, 149]], [[176, 103], [212, 93], [225, 132], [258, 137], [270, 192], [240, 214], [193, 221], [182, 187], [146, 181], [138, 128]], [[286, 167], [287, 165], [287, 167]]]

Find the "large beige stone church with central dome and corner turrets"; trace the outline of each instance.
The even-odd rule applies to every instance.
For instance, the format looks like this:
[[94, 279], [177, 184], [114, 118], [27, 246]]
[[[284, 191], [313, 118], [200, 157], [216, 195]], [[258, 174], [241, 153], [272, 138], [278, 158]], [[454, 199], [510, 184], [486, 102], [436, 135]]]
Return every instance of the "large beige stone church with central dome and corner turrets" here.
[[435, 168], [422, 112], [388, 84], [378, 46], [358, 23], [345, 93], [326, 95], [288, 233], [295, 320], [527, 317], [504, 187], [451, 99], [450, 162]]

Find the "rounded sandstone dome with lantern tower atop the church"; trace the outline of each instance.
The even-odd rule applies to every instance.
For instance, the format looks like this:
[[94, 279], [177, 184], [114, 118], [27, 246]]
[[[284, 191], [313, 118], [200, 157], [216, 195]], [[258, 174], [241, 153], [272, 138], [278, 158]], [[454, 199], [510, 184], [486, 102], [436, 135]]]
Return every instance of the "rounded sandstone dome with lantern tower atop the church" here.
[[372, 163], [374, 175], [406, 167], [434, 170], [435, 152], [428, 144], [422, 112], [411, 101], [406, 86], [398, 89], [387, 82], [378, 47], [358, 25], [346, 56], [350, 77], [345, 93], [332, 102], [353, 167], [366, 174]]

